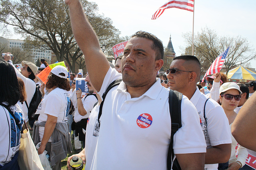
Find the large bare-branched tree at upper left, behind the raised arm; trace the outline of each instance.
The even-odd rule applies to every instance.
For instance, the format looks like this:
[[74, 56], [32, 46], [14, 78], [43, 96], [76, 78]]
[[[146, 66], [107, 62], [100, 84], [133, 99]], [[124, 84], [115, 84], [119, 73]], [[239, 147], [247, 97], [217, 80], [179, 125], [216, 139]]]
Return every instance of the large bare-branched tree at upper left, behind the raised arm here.
[[[96, 3], [81, 1], [100, 43], [110, 49], [120, 32], [110, 18], [98, 14]], [[52, 50], [58, 61], [66, 60], [74, 71], [73, 63], [80, 49], [76, 46], [68, 6], [63, 0], [0, 0], [0, 22], [14, 26], [15, 32], [25, 37], [28, 44]]]

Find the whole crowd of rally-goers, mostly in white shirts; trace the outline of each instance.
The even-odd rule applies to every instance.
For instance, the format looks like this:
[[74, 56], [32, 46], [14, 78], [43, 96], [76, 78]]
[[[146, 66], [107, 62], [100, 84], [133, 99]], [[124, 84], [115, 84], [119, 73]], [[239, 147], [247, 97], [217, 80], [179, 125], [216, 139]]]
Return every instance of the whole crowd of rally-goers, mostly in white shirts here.
[[[55, 66], [44, 84], [36, 76], [48, 66], [45, 59], [40, 68], [22, 61], [21, 70], [8, 53], [0, 60], [0, 169], [22, 169], [18, 154], [24, 123], [38, 154], [46, 150], [54, 170], [72, 151], [72, 139], [76, 154], [68, 157], [68, 169], [74, 156], [82, 158], [86, 170], [166, 170], [166, 162], [188, 170], [252, 169], [245, 162], [248, 153], [256, 156], [255, 81], [228, 82], [220, 72], [200, 80], [200, 61], [190, 55], [175, 57], [166, 72], [159, 72], [164, 47], [144, 31], [132, 35], [113, 65], [80, 1], [66, 4], [88, 73], [68, 78], [64, 66]], [[85, 95], [76, 87], [77, 78], [86, 82]], [[38, 117], [31, 117], [38, 86], [42, 100], [34, 113]], [[180, 105], [170, 106], [172, 90], [182, 93]], [[181, 127], [169, 159], [171, 107], [180, 107]]]

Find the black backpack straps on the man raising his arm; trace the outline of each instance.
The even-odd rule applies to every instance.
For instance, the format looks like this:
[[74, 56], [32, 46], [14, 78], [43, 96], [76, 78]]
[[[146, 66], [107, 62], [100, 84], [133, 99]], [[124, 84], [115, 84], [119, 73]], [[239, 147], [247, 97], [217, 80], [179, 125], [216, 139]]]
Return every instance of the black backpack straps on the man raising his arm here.
[[[122, 79], [117, 79], [113, 81], [106, 89], [106, 91], [102, 95], [102, 102], [100, 104], [99, 114], [98, 114], [98, 124], [100, 128], [100, 116], [102, 115], [102, 107], [104, 104], [104, 100], [106, 98], [107, 93], [110, 89], [112, 89], [114, 86], [117, 86], [120, 84]], [[168, 149], [168, 156], [167, 156], [167, 169], [171, 170], [172, 162], [172, 170], [181, 170], [180, 165], [178, 164], [177, 159], [174, 159], [174, 152], [173, 152], [173, 136], [178, 131], [178, 129], [182, 126], [181, 125], [181, 100], [182, 100], [182, 93], [170, 90], [169, 91], [169, 108], [170, 108], [170, 117], [172, 120], [172, 132], [171, 132], [171, 142]], [[172, 106], [178, 106], [178, 107], [172, 107]], [[172, 108], [172, 109], [171, 109]]]

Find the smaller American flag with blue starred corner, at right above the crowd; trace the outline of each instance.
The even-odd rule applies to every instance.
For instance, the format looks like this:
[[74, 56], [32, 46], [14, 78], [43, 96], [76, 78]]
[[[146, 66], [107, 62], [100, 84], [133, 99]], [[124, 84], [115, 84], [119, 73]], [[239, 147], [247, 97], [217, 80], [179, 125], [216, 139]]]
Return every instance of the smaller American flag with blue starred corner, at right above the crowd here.
[[[207, 72], [204, 74], [204, 78], [210, 74], [215, 74], [216, 72], [220, 72], [221, 68], [222, 68], [222, 65], [228, 55], [228, 51], [229, 51], [229, 48], [226, 49], [226, 51], [224, 51], [223, 53], [221, 53], [215, 60], [214, 62], [212, 63], [212, 65], [210, 66], [210, 68], [208, 68]], [[203, 80], [204, 80], [203, 78]]]

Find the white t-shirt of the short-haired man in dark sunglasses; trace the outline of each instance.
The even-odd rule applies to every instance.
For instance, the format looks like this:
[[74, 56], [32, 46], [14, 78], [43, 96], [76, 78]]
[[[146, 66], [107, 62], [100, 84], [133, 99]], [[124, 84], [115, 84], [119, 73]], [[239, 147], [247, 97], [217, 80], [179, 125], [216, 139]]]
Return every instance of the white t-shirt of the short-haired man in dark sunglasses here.
[[[206, 100], [207, 97], [199, 91], [198, 87], [196, 87], [196, 92], [190, 99], [190, 102], [196, 106], [198, 115], [200, 116], [207, 149], [212, 148], [212, 146], [232, 143], [228, 118], [226, 117], [223, 108], [212, 99], [207, 101], [205, 107], [205, 117], [207, 120], [206, 129], [206, 121], [204, 119], [204, 104]], [[208, 170], [217, 170], [218, 164], [205, 164], [204, 168], [208, 168]]]

